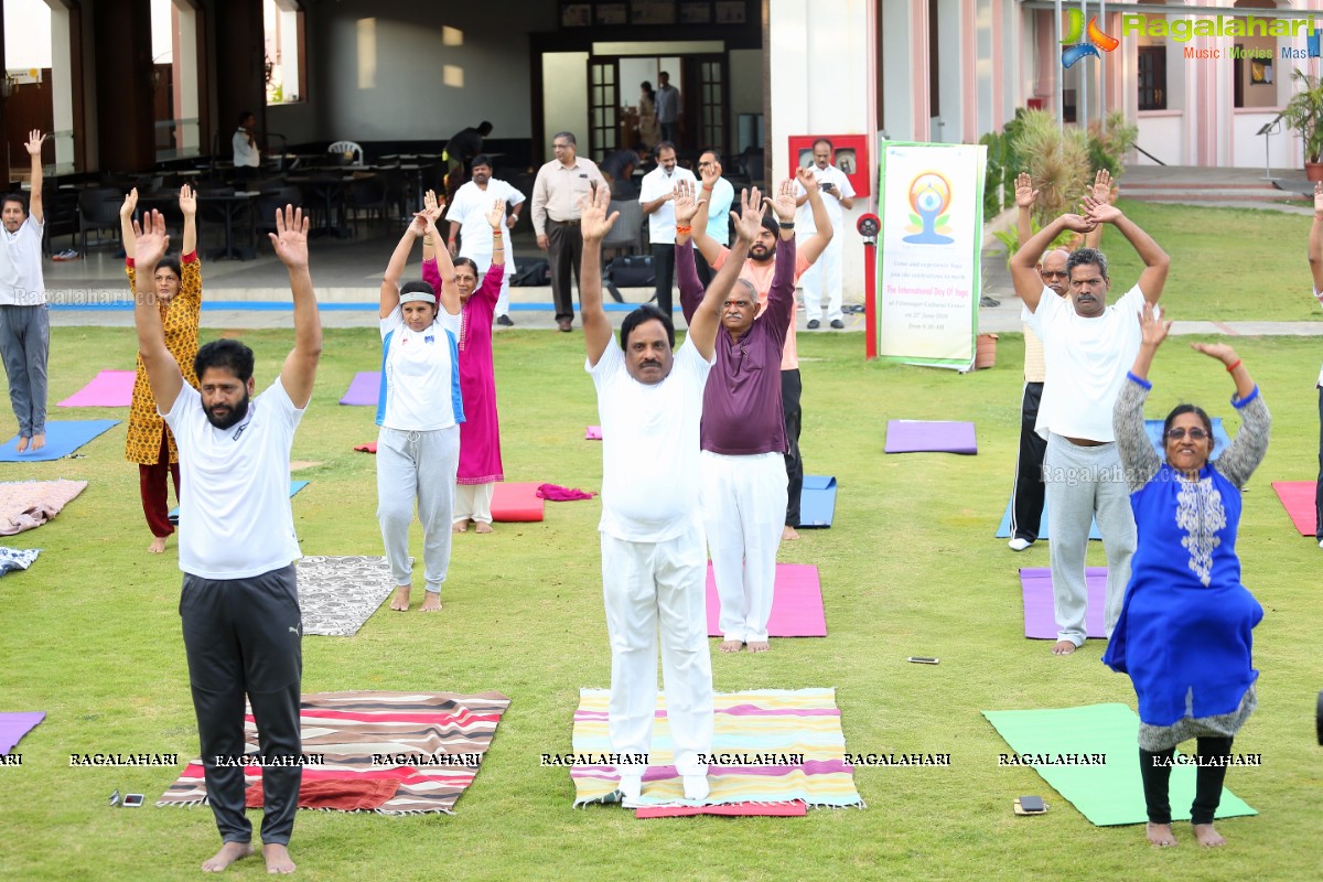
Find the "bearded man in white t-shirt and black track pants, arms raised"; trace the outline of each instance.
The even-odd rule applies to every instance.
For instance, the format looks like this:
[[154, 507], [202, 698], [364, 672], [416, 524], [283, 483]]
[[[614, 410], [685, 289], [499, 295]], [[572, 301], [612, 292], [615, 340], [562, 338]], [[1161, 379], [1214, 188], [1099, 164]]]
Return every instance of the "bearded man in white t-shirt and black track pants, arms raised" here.
[[312, 397], [321, 321], [308, 275], [308, 222], [277, 212], [271, 245], [290, 271], [294, 349], [279, 378], [255, 389], [253, 350], [221, 339], [197, 352], [198, 389], [184, 382], [165, 348], [152, 279], [169, 243], [160, 212], [138, 234], [134, 317], [156, 409], [175, 432], [180, 463], [179, 611], [206, 796], [222, 846], [202, 863], [218, 873], [253, 854], [245, 817], [243, 702], [261, 743], [262, 857], [269, 873], [292, 873], [288, 842], [299, 804], [302, 616], [290, 510], [290, 446]]

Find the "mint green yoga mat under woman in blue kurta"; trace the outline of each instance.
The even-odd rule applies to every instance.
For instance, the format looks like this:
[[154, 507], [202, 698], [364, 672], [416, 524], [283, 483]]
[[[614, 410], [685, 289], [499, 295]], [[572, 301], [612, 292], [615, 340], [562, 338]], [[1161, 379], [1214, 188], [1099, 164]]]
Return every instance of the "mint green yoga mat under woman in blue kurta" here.
[[[1139, 779], [1139, 717], [1126, 705], [1086, 705], [1045, 710], [984, 710], [983, 715], [1019, 755], [1043, 759], [1105, 755], [1103, 764], [1039, 763], [1033, 770], [1081, 815], [1098, 826], [1144, 824], [1144, 785]], [[1234, 751], [1234, 748], [1232, 748]], [[1236, 754], [1232, 754], [1236, 758]], [[1180, 755], [1177, 754], [1177, 760]], [[1233, 766], [1236, 772], [1242, 767]], [[1195, 767], [1171, 770], [1171, 817], [1189, 820], [1195, 799]], [[1050, 800], [1048, 800], [1050, 803]], [[1217, 817], [1258, 815], [1222, 788]]]

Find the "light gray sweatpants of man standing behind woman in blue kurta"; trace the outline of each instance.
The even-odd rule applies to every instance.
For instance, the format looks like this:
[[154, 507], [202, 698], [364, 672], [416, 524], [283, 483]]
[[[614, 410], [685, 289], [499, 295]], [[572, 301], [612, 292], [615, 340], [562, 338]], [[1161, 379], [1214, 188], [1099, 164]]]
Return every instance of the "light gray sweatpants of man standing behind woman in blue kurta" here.
[[1107, 553], [1107, 602], [1103, 608], [1106, 635], [1121, 618], [1121, 602], [1130, 582], [1130, 557], [1135, 553], [1135, 516], [1115, 443], [1080, 447], [1056, 434], [1048, 435], [1043, 458], [1043, 481], [1048, 497], [1048, 536], [1052, 557], [1052, 595], [1056, 602], [1057, 639], [1082, 645], [1088, 636], [1085, 611], [1085, 551], [1089, 522], [1098, 521]]

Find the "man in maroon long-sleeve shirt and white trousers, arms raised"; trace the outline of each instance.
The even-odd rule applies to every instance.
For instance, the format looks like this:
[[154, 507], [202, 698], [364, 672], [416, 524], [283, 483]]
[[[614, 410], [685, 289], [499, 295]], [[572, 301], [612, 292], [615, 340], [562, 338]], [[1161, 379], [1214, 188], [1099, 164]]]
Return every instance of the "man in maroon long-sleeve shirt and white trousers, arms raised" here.
[[[794, 184], [782, 182], [775, 208], [790, 212], [794, 201]], [[675, 259], [685, 320], [704, 296], [691, 241], [696, 210], [693, 186], [680, 184]], [[758, 315], [753, 284], [738, 279], [721, 304], [716, 365], [704, 389], [699, 430], [699, 495], [721, 598], [722, 652], [738, 652], [745, 644], [750, 652], [769, 649], [767, 619], [786, 510], [781, 356], [795, 308], [795, 230], [779, 229], [769, 217], [758, 242], [763, 250], [777, 243], [781, 253], [765, 315]]]

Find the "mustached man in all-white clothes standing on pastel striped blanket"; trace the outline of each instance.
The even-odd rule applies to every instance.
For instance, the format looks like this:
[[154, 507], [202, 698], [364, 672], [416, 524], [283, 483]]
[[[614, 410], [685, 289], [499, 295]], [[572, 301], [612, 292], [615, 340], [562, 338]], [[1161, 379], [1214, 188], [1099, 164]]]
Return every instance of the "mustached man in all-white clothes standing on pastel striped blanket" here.
[[[620, 325], [620, 344], [602, 308], [602, 237], [618, 214], [598, 188], [581, 202], [579, 274], [587, 372], [602, 422], [602, 586], [611, 640], [611, 751], [647, 754], [656, 711], [658, 627], [675, 767], [684, 796], [708, 796], [712, 750], [712, 659], [705, 606], [706, 553], [699, 508], [699, 421], [712, 369], [720, 307], [762, 223], [757, 189], [736, 225], [733, 259], [693, 313], [688, 340], [672, 354], [671, 315], [651, 304]], [[618, 767], [626, 800], [642, 793], [644, 764]]]

